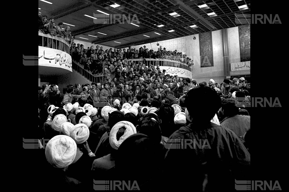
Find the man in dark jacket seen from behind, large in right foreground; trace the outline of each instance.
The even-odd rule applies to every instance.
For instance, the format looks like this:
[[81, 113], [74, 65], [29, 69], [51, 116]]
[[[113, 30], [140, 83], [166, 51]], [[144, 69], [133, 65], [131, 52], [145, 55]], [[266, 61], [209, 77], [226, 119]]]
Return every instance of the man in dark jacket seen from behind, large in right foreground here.
[[165, 182], [170, 183], [170, 190], [190, 187], [195, 191], [231, 191], [234, 184], [228, 182], [234, 182], [232, 178], [245, 179], [250, 175], [249, 152], [234, 132], [210, 122], [221, 107], [215, 90], [192, 89], [185, 103], [186, 118], [191, 123], [174, 132], [167, 141], [181, 145], [175, 149], [175, 144], [165, 145], [168, 149], [165, 165], [169, 167], [165, 174], [178, 170], [180, 176], [166, 177]]

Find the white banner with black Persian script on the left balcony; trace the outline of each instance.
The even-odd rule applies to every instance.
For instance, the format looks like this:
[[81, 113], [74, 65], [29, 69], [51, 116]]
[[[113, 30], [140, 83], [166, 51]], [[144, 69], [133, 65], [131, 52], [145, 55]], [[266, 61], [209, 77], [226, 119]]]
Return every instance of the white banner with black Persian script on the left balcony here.
[[59, 67], [72, 72], [71, 56], [63, 51], [38, 46], [39, 66]]

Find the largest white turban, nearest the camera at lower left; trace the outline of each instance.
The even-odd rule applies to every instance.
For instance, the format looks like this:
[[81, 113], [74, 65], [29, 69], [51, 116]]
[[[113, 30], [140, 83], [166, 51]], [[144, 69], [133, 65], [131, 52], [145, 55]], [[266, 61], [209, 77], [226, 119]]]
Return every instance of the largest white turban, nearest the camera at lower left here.
[[74, 161], [76, 150], [76, 143], [71, 137], [57, 135], [48, 141], [45, 156], [53, 167], [64, 168]]

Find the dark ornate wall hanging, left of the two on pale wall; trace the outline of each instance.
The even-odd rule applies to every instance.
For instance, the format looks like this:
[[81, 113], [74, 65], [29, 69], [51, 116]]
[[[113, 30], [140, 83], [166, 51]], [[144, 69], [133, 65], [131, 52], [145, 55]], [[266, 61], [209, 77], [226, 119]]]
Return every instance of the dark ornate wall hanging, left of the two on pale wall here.
[[201, 67], [214, 66], [212, 32], [200, 33], [199, 43], [200, 43]]

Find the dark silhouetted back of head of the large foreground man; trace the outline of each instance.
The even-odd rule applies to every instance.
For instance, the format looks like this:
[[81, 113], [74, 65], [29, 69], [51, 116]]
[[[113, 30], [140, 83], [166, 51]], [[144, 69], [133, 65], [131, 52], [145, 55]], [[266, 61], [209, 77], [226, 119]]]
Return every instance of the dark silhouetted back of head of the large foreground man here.
[[188, 91], [185, 104], [193, 121], [205, 122], [210, 121], [221, 108], [221, 99], [215, 90], [198, 87]]

